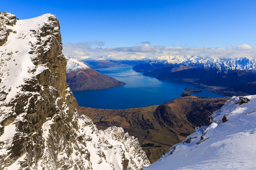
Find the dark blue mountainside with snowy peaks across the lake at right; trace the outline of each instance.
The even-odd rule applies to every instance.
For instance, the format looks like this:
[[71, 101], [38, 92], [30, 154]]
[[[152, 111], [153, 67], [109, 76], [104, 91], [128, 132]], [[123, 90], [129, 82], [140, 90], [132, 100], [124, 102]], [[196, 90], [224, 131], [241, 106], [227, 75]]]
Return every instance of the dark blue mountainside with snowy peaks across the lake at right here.
[[256, 94], [255, 90], [246, 90], [251, 87], [248, 84], [256, 82], [255, 67], [256, 60], [250, 57], [176, 56], [161, 61], [146, 61], [133, 69], [160, 80], [199, 84], [217, 94], [233, 96]]

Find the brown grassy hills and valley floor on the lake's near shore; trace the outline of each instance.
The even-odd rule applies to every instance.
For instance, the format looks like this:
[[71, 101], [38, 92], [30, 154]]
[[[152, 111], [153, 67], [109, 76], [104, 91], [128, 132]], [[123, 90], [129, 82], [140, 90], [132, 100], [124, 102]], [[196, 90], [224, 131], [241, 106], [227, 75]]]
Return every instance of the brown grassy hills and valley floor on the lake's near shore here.
[[212, 99], [189, 95], [160, 105], [131, 109], [95, 109], [77, 107], [80, 115], [92, 118], [99, 129], [118, 126], [138, 138], [153, 163], [171, 146], [183, 141], [197, 126], [209, 125], [209, 116], [230, 97]]

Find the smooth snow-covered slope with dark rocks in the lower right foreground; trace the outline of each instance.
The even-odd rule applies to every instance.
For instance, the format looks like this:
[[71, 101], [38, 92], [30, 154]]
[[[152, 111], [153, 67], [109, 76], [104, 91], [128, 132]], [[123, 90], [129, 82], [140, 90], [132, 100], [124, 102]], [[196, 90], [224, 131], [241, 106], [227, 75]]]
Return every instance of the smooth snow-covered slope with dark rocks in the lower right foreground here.
[[255, 169], [256, 95], [232, 97], [210, 118], [143, 169]]

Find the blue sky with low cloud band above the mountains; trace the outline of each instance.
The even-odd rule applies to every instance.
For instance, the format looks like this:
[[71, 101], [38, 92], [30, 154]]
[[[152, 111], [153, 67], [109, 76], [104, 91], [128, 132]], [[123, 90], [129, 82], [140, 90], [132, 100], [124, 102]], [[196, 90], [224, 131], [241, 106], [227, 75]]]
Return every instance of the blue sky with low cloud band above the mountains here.
[[78, 57], [256, 57], [256, 1], [3, 1], [19, 19], [60, 20], [63, 53]]

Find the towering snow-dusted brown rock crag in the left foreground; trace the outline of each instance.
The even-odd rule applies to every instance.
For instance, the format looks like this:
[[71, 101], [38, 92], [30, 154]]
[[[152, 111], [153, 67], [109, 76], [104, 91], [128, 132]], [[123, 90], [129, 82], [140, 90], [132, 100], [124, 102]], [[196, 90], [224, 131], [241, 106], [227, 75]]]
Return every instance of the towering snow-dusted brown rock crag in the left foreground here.
[[66, 83], [59, 20], [0, 13], [1, 169], [141, 169], [137, 138], [79, 116]]

